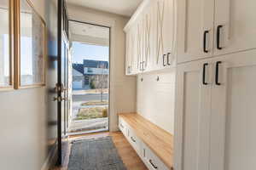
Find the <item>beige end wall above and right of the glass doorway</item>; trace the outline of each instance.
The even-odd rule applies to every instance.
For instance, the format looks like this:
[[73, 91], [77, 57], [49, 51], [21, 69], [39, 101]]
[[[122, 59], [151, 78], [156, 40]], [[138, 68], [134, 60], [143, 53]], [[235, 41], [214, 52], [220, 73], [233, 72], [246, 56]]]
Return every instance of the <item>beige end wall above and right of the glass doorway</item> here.
[[136, 111], [136, 77], [125, 76], [125, 24], [129, 20], [90, 8], [68, 5], [71, 20], [111, 26], [110, 130], [118, 130], [119, 112]]

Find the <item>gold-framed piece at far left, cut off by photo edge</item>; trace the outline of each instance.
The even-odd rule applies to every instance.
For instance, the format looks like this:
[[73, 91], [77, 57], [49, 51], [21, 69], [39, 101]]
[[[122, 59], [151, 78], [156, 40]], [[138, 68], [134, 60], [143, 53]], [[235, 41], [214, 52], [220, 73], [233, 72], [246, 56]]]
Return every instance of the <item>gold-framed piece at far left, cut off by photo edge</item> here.
[[0, 90], [13, 89], [13, 0], [0, 1]]

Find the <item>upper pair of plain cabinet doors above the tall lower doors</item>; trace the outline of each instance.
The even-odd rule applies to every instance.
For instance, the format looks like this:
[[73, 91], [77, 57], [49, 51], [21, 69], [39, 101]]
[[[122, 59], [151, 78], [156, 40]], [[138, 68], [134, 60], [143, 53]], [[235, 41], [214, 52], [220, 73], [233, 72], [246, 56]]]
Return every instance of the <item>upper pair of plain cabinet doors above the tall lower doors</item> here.
[[253, 0], [178, 0], [177, 62], [256, 48]]

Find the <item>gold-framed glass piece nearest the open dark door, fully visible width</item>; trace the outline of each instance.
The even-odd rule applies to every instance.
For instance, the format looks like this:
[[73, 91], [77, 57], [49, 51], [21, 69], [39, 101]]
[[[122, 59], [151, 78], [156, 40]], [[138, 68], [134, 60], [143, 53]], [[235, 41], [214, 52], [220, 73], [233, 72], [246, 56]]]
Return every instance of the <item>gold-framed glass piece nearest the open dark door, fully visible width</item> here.
[[29, 0], [15, 3], [15, 88], [45, 86], [46, 24]]

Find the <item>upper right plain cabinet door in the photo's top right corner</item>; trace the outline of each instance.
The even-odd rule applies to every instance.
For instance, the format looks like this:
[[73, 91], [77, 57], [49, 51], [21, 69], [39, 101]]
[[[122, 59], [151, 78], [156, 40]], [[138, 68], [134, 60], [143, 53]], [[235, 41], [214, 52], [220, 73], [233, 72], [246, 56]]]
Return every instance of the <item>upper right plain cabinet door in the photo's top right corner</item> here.
[[214, 54], [256, 48], [256, 1], [215, 1]]

